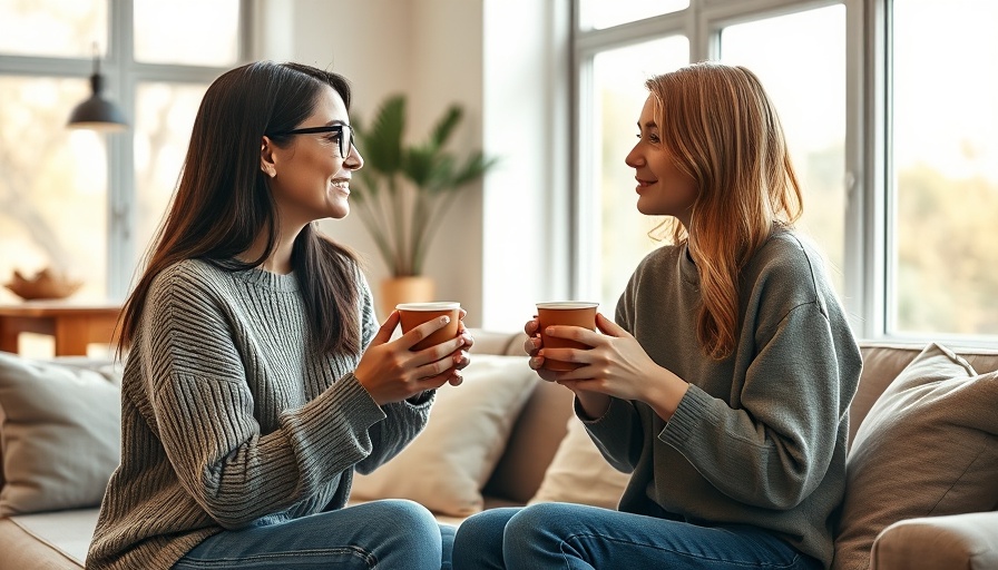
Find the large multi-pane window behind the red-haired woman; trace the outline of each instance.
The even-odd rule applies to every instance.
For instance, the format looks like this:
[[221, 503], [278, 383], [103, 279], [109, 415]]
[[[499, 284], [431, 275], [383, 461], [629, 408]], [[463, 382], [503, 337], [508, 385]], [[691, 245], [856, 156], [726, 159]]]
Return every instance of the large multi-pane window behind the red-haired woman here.
[[[618, 167], [644, 99], [636, 76], [713, 59], [753, 69], [775, 100], [804, 186], [799, 227], [826, 255], [857, 334], [994, 342], [998, 39], [988, 26], [998, 4], [864, 3], [649, 0], [614, 11], [610, 0], [576, 0], [580, 191], [568, 240], [578, 297], [613, 312], [635, 258], [657, 246], [645, 239], [655, 220], [622, 212], [634, 205], [633, 174]], [[685, 40], [688, 57], [645, 51], [635, 67], [662, 38]], [[604, 68], [617, 75], [601, 82]], [[640, 95], [609, 95], [630, 88]]]

